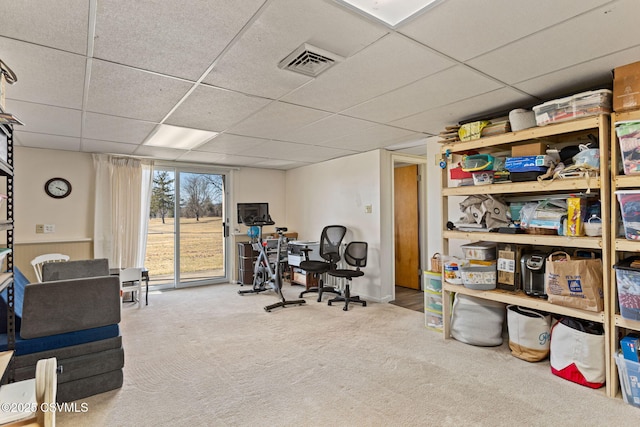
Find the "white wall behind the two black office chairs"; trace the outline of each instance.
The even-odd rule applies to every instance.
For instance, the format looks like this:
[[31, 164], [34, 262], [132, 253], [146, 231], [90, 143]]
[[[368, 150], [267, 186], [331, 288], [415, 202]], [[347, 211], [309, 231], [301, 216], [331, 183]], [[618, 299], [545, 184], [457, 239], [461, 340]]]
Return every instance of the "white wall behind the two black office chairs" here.
[[[300, 240], [318, 240], [323, 227], [340, 224], [348, 230], [345, 242], [368, 242], [365, 275], [353, 286], [354, 293], [374, 301], [381, 299], [381, 271], [388, 265], [381, 256], [381, 153], [371, 151], [290, 170], [285, 186], [286, 225], [300, 233]], [[365, 212], [367, 205], [371, 213]]]

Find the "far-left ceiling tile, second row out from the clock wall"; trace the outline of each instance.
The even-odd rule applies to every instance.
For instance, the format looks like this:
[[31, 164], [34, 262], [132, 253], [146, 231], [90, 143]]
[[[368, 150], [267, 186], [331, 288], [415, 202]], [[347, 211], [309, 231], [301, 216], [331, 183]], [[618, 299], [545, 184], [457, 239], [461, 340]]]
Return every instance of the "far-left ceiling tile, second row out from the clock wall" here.
[[24, 126], [20, 130], [58, 136], [80, 136], [82, 112], [32, 102], [7, 101], [7, 111], [15, 114]]

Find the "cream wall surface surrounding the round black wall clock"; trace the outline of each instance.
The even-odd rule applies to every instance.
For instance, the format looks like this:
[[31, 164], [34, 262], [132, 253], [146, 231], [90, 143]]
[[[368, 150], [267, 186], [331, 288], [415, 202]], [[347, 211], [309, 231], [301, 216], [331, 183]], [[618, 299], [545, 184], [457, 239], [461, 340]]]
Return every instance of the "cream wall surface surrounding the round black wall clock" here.
[[[15, 147], [16, 243], [93, 238], [93, 160], [72, 151]], [[54, 177], [71, 182], [71, 194], [53, 199], [44, 184]], [[54, 224], [55, 233], [36, 234], [36, 224]]]

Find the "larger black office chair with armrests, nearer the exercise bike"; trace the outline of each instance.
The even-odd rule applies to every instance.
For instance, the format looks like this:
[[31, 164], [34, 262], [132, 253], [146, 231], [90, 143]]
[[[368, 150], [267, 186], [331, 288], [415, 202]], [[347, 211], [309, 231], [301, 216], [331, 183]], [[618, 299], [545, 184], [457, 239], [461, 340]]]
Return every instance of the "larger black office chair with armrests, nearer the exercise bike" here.
[[340, 295], [340, 291], [336, 290], [334, 287], [324, 286], [323, 275], [327, 271], [333, 270], [337, 267], [338, 262], [340, 261], [340, 245], [342, 244], [342, 239], [344, 239], [345, 234], [347, 234], [347, 227], [342, 225], [327, 225], [322, 229], [319, 250], [320, 257], [324, 261], [310, 260], [309, 252], [311, 249], [302, 249], [305, 260], [300, 263], [300, 268], [305, 270], [307, 273], [313, 274], [318, 285], [313, 286], [306, 291], [302, 291], [300, 293], [300, 298], [302, 298], [306, 293], [317, 292], [318, 302], [320, 302], [322, 301], [322, 294], [325, 292]]

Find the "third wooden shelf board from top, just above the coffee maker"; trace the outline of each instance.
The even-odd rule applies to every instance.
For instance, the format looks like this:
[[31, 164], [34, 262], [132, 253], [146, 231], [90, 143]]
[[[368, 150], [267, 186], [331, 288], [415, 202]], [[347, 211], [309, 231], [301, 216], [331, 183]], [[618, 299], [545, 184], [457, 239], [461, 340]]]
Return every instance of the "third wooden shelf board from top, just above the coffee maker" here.
[[568, 246], [571, 248], [602, 249], [602, 237], [567, 237], [543, 234], [509, 234], [509, 233], [484, 233], [445, 230], [442, 232], [445, 239], [486, 240], [498, 243], [522, 243], [542, 246]]

